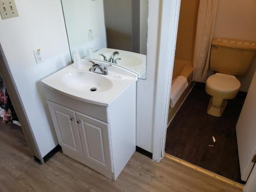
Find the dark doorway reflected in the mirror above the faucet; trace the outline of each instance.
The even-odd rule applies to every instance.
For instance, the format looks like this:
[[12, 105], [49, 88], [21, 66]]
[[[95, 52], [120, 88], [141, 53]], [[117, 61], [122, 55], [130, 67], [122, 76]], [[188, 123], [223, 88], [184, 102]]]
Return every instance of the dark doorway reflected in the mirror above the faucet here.
[[146, 55], [148, 0], [104, 1], [104, 18], [107, 48]]

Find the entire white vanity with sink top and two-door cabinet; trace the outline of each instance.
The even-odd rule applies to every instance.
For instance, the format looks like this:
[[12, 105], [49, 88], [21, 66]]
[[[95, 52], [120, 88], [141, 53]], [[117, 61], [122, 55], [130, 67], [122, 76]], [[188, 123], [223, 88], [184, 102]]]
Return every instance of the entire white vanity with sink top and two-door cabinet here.
[[54, 129], [63, 154], [116, 180], [136, 150], [138, 75], [114, 65], [101, 75], [81, 62], [41, 80]]

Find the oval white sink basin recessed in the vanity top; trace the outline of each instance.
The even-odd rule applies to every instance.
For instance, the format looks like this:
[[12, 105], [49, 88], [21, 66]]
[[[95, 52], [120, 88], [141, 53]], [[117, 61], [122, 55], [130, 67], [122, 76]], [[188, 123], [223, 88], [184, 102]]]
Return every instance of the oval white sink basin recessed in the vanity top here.
[[63, 75], [61, 80], [67, 87], [84, 92], [90, 92], [92, 88], [96, 88], [97, 92], [104, 92], [113, 87], [108, 78], [97, 73], [74, 71]]

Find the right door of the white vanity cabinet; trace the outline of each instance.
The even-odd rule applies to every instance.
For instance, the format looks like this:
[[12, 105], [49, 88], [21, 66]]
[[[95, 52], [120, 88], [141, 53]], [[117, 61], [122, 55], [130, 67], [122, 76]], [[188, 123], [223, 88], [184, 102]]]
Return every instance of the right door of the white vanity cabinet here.
[[76, 117], [87, 165], [112, 177], [109, 124], [78, 112]]

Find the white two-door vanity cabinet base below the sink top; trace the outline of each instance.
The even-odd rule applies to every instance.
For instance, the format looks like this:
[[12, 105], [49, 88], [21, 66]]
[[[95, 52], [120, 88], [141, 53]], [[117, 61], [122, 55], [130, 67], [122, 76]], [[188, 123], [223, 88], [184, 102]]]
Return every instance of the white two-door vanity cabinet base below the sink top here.
[[62, 152], [116, 180], [136, 150], [136, 82], [108, 106], [45, 91]]

